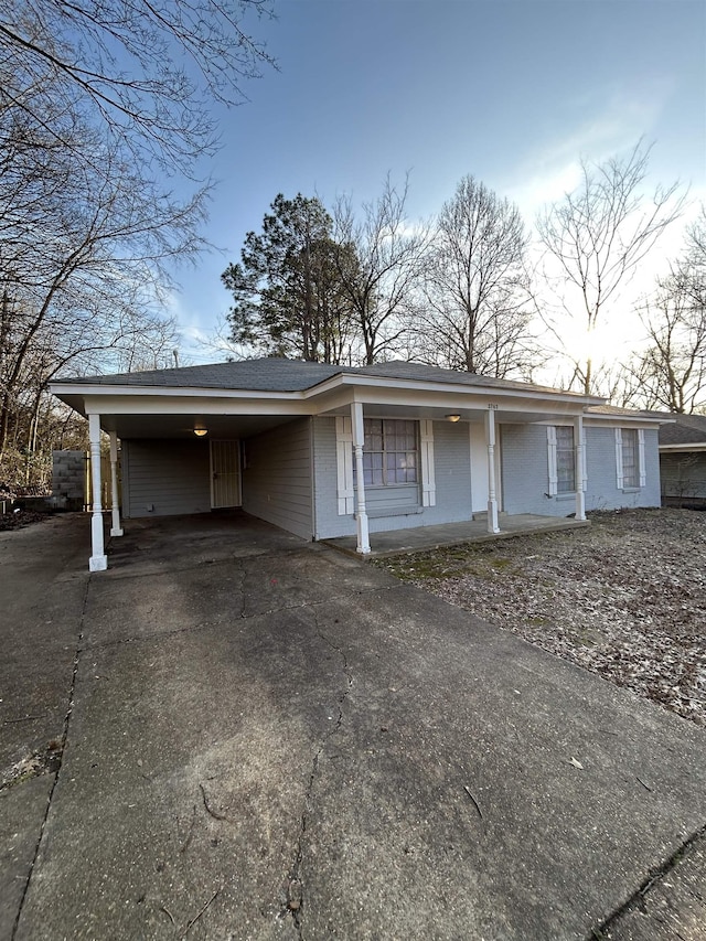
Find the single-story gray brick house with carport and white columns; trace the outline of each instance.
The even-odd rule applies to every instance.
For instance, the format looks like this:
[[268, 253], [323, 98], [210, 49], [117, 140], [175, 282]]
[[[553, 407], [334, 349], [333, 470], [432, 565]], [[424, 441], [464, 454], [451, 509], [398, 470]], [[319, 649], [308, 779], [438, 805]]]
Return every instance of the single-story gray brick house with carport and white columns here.
[[92, 570], [107, 566], [100, 430], [113, 527], [125, 517], [243, 506], [306, 539], [502, 514], [584, 520], [660, 504], [660, 419], [603, 399], [415, 363], [263, 359], [52, 383], [88, 418]]

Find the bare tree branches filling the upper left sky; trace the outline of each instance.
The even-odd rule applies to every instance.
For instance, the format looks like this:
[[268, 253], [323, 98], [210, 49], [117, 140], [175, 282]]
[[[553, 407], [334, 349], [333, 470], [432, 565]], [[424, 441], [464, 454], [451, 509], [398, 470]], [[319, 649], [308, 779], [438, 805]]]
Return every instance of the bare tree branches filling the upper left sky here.
[[11, 449], [30, 468], [54, 375], [153, 367], [173, 349], [163, 299], [176, 264], [205, 245], [208, 188], [180, 201], [157, 180], [196, 175], [217, 142], [211, 105], [244, 100], [270, 62], [245, 30], [263, 14], [269, 0], [3, 4], [3, 477]]

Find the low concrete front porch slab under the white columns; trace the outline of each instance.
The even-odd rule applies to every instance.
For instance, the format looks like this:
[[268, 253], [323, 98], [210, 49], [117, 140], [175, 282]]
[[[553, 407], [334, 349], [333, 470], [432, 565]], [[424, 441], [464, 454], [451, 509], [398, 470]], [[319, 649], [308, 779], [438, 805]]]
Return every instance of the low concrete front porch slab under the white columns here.
[[490, 539], [522, 536], [526, 533], [550, 533], [555, 530], [574, 530], [590, 525], [587, 520], [538, 516], [532, 513], [514, 515], [501, 513], [499, 523], [500, 532], [489, 533], [486, 514], [477, 513], [474, 520], [463, 523], [442, 523], [438, 526], [417, 526], [411, 530], [388, 530], [383, 533], [373, 533], [371, 552], [365, 555], [356, 552], [357, 541], [355, 536], [341, 536], [335, 539], [322, 539], [322, 542], [357, 558], [374, 558], [395, 555], [396, 553], [425, 552], [458, 543], [484, 543]]

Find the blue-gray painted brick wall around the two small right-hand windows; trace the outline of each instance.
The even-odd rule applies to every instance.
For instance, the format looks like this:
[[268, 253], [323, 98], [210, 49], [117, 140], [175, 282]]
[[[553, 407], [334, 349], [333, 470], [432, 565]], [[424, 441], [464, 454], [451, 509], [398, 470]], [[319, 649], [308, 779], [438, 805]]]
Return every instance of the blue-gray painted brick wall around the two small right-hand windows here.
[[[657, 432], [644, 432], [646, 485], [618, 490], [616, 472], [616, 426], [586, 425], [587, 510], [620, 506], [659, 506], [660, 469]], [[547, 496], [547, 429], [544, 425], [502, 426], [503, 510], [507, 513], [538, 513], [568, 516], [575, 511], [574, 494]]]

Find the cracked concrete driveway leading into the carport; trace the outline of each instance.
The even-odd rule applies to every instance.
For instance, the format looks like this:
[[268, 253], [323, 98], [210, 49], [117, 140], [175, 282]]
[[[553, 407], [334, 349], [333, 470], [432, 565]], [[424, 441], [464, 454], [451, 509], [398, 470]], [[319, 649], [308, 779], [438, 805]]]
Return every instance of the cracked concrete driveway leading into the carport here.
[[257, 521], [88, 554], [0, 534], [0, 937], [643, 937], [703, 731]]

